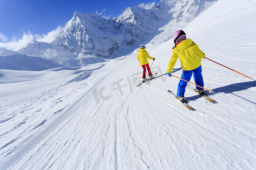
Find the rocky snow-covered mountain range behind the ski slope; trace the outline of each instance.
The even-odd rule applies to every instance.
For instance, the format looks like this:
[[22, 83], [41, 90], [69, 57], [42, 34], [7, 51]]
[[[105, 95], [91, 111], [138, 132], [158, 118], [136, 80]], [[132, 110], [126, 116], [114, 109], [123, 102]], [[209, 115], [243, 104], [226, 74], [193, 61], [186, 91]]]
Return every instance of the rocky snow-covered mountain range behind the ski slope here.
[[[65, 25], [63, 33], [49, 45], [44, 45], [46, 49], [40, 46], [38, 50], [40, 53], [47, 50], [55, 53], [61, 49], [69, 53], [65, 56], [74, 56], [79, 60], [80, 53], [82, 56], [123, 56], [133, 52], [139, 44], [147, 44], [160, 33], [159, 28], [170, 22], [179, 23], [176, 24], [178, 28], [184, 27], [184, 23], [191, 22], [205, 9], [206, 4], [209, 5], [208, 2], [215, 1], [162, 0], [150, 9], [128, 7], [118, 18], [110, 20], [97, 14], [75, 11], [72, 19]], [[165, 37], [164, 41], [168, 39], [169, 36]], [[20, 51], [28, 54], [27, 51], [30, 55], [34, 51], [32, 56], [40, 54], [34, 45], [28, 45]], [[63, 63], [63, 52], [60, 58]], [[55, 61], [59, 62], [57, 58]]]

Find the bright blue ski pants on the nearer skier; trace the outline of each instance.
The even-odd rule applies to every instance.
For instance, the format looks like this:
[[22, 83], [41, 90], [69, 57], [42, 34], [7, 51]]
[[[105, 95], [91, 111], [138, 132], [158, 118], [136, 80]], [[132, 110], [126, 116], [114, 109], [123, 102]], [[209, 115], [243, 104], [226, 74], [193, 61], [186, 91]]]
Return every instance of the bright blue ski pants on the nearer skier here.
[[[184, 71], [183, 70], [182, 75], [181, 75], [181, 79], [187, 80], [189, 82], [190, 79], [191, 79], [192, 74], [193, 74], [193, 77], [194, 77], [196, 85], [204, 87], [204, 80], [203, 80], [203, 75], [202, 75], [202, 67], [199, 66], [196, 69], [189, 70], [189, 71]], [[177, 96], [179, 96], [179, 97], [183, 97], [184, 96], [185, 88], [186, 88], [188, 82], [180, 80], [178, 88], [177, 88]], [[203, 88], [200, 88], [200, 87], [197, 87], [197, 86], [196, 86], [196, 89], [197, 90], [203, 90]]]

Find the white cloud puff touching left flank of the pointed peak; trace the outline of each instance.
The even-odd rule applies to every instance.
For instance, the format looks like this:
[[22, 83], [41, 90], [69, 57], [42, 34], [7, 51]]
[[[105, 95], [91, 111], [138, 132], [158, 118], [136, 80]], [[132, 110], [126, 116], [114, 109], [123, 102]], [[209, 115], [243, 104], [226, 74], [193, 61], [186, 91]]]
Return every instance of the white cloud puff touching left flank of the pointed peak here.
[[57, 36], [60, 36], [60, 33], [63, 31], [63, 27], [57, 27], [55, 30], [51, 31], [51, 32], [48, 32], [47, 35], [44, 35], [43, 36], [39, 36], [39, 35], [36, 35], [36, 41], [39, 41], [39, 42], [52, 42], [53, 40], [56, 39]]

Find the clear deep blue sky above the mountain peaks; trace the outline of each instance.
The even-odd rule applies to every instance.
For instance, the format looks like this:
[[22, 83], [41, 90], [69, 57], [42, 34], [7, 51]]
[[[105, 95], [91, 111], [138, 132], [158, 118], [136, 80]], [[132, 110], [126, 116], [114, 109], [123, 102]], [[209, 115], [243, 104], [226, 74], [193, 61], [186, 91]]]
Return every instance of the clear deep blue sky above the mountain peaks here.
[[39, 38], [43, 41], [49, 34], [56, 35], [75, 11], [113, 18], [122, 14], [127, 7], [152, 6], [159, 2], [160, 0], [0, 0], [0, 47], [8, 49], [10, 42]]

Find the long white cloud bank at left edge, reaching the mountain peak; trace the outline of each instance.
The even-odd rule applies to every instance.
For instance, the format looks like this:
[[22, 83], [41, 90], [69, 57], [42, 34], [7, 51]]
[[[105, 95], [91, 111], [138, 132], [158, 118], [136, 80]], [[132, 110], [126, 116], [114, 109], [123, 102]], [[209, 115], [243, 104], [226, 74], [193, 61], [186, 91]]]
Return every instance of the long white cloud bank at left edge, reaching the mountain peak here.
[[0, 40], [3, 42], [0, 42], [0, 47], [6, 48], [9, 50], [14, 50], [17, 51], [21, 48], [26, 47], [29, 43], [33, 41], [39, 41], [39, 42], [52, 42], [53, 40], [56, 39], [57, 36], [60, 35], [60, 33], [63, 31], [62, 27], [57, 27], [55, 30], [48, 32], [47, 35], [32, 35], [30, 31], [24, 32], [22, 39], [17, 40], [15, 37], [7, 42], [7, 37], [3, 36], [0, 33]]

